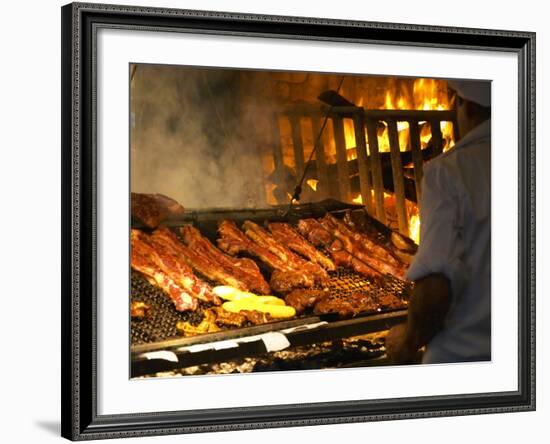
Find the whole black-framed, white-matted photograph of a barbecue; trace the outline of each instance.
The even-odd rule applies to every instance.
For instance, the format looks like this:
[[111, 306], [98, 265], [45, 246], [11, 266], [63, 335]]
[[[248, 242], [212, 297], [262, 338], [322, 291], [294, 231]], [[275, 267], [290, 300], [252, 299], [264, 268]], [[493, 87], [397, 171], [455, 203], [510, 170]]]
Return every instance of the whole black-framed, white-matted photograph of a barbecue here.
[[534, 410], [534, 33], [61, 12], [64, 437]]

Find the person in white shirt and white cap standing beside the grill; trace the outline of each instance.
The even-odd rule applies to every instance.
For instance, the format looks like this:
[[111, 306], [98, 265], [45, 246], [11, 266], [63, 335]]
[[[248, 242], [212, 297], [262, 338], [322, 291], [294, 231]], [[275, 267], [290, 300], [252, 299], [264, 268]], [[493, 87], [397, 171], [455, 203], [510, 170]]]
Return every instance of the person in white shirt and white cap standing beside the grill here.
[[491, 359], [491, 87], [454, 81], [459, 142], [424, 168], [420, 246], [407, 322], [386, 337], [390, 362]]

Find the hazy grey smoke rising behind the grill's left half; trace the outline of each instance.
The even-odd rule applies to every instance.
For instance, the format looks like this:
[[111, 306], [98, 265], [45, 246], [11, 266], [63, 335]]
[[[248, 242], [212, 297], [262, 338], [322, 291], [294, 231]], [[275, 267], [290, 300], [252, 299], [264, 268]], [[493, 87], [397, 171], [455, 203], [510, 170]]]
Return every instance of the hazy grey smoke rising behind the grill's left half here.
[[131, 184], [186, 208], [265, 207], [259, 115], [239, 71], [138, 65], [131, 84]]

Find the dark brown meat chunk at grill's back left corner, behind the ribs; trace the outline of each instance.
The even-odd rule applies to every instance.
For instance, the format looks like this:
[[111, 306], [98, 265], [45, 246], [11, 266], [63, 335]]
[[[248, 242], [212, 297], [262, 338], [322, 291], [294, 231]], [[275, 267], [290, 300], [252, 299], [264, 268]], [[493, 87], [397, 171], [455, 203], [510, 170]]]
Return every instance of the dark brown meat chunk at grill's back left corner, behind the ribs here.
[[174, 199], [163, 194], [132, 193], [132, 216], [149, 228], [156, 228], [171, 215], [184, 212]]

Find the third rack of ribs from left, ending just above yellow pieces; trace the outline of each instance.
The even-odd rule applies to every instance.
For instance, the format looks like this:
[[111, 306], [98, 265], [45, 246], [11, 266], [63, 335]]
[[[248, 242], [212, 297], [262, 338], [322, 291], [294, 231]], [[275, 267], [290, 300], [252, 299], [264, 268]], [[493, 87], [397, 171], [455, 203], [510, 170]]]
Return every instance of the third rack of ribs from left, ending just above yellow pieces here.
[[193, 270], [200, 273], [207, 279], [222, 283], [224, 285], [231, 285], [236, 288], [239, 288], [239, 286], [242, 285], [238, 279], [236, 279], [231, 273], [228, 273], [226, 270], [219, 267], [217, 263], [212, 262], [209, 258], [195, 252], [192, 248], [189, 248], [187, 245], [180, 242], [169, 228], [157, 228], [153, 232], [152, 237], [158, 239], [159, 242], [163, 242], [165, 245], [170, 245], [180, 260], [183, 260]]

